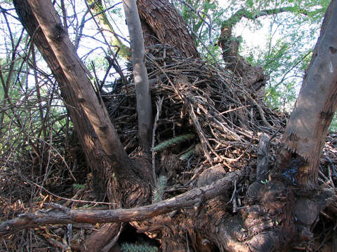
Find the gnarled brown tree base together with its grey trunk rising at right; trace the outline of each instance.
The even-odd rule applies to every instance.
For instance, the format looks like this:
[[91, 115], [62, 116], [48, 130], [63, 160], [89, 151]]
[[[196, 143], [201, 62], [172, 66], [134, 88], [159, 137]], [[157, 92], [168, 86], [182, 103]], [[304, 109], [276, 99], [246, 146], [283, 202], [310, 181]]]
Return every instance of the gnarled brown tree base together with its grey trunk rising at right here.
[[[332, 196], [313, 185], [317, 180], [322, 145], [337, 103], [337, 31], [333, 25], [336, 18], [336, 0], [333, 0], [284, 134], [282, 153], [287, 155], [281, 155], [279, 169], [270, 172], [267, 165], [259, 168], [256, 181], [246, 195], [245, 207], [234, 216], [224, 211], [225, 198], [217, 197], [204, 202], [201, 209], [180, 212], [176, 218], [154, 218], [139, 223], [144, 231], [161, 231], [166, 235], [162, 239], [164, 251], [190, 249], [187, 239], [195, 241], [191, 244], [194, 251], [211, 249], [204, 244], [198, 245], [198, 240], [210, 241], [209, 244], [233, 252], [289, 251], [293, 241], [312, 238], [311, 225]], [[235, 48], [233, 52], [237, 56]], [[233, 68], [233, 71], [236, 70]], [[261, 146], [267, 146], [267, 137], [260, 141], [266, 142]], [[266, 182], [267, 174], [270, 176]], [[184, 230], [185, 237], [189, 238], [184, 239], [180, 230]]]

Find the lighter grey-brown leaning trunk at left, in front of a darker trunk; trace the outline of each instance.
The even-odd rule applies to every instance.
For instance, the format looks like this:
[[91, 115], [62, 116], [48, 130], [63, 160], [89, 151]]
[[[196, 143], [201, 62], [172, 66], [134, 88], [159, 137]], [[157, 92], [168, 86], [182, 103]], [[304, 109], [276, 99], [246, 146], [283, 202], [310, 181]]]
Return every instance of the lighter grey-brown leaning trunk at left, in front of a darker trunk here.
[[[55, 12], [51, 1], [29, 1], [39, 26], [46, 36], [55, 60], [67, 78], [68, 85], [73, 90], [74, 107], [80, 107], [88, 118], [95, 131], [105, 153], [116, 162], [119, 158], [122, 162], [128, 160], [117, 132], [110, 122], [109, 114], [104, 104], [91, 85], [88, 78], [88, 70], [74, 52], [74, 45], [62, 27], [58, 14]], [[125, 165], [126, 167], [126, 165]]]

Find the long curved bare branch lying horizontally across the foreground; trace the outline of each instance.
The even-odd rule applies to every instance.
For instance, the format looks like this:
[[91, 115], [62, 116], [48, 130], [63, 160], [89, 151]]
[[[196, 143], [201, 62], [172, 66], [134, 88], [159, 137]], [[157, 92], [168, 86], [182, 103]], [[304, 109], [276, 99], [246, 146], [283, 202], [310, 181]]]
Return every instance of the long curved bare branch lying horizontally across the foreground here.
[[39, 210], [34, 213], [20, 214], [18, 218], [0, 224], [0, 237], [11, 235], [26, 228], [36, 228], [39, 225], [67, 223], [122, 223], [141, 221], [146, 218], [166, 214], [176, 209], [200, 204], [213, 197], [227, 193], [234, 181], [242, 178], [242, 172], [231, 172], [216, 183], [178, 195], [169, 200], [133, 209], [113, 210], [72, 210], [59, 204], [48, 204], [51, 209]]

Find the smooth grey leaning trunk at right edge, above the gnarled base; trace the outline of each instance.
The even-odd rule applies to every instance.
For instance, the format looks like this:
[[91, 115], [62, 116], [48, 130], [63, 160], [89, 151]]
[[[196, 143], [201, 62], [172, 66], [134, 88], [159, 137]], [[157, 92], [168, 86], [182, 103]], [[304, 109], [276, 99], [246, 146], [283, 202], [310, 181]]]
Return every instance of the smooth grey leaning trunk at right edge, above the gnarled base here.
[[293, 169], [293, 179], [300, 185], [317, 183], [320, 153], [337, 108], [336, 18], [337, 3], [333, 0], [284, 132], [286, 150], [280, 169]]

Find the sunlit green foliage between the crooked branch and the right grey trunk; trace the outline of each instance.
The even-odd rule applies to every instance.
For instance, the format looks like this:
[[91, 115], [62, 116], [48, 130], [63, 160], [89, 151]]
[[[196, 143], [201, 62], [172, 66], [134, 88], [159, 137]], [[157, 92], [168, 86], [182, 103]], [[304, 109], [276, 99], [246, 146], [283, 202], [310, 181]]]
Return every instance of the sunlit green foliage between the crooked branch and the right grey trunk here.
[[[246, 8], [253, 12], [263, 9], [288, 8], [289, 11], [267, 15], [263, 20], [269, 26], [267, 43], [250, 48], [242, 45], [242, 54], [251, 64], [263, 66], [270, 76], [266, 85], [266, 101], [274, 108], [290, 111], [300, 89], [304, 70], [322, 24], [329, 0], [317, 1], [255, 1]], [[252, 31], [258, 27], [251, 27]], [[246, 38], [247, 39], [247, 38]]]

